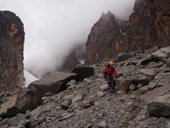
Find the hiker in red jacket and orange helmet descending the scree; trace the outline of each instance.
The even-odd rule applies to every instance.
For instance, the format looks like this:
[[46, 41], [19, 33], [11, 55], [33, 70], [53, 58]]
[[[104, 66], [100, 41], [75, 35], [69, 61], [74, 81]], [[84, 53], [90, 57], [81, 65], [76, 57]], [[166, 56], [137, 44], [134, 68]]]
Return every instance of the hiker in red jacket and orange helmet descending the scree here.
[[116, 86], [116, 81], [113, 78], [113, 73], [114, 73], [115, 77], [118, 78], [118, 75], [117, 75], [116, 70], [114, 69], [113, 65], [114, 65], [114, 62], [110, 61], [110, 63], [104, 69], [104, 78], [106, 78], [106, 80], [107, 80], [110, 92], [114, 92], [114, 88]]

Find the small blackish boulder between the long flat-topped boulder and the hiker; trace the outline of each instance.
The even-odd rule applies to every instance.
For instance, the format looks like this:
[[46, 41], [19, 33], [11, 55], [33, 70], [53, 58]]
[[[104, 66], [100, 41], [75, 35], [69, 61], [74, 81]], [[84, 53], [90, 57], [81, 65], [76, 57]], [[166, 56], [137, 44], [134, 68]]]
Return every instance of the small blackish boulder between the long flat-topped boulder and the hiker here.
[[94, 74], [94, 68], [85, 66], [85, 65], [80, 65], [80, 66], [75, 67], [72, 70], [72, 72], [78, 74], [77, 81], [82, 81], [84, 78], [87, 78]]

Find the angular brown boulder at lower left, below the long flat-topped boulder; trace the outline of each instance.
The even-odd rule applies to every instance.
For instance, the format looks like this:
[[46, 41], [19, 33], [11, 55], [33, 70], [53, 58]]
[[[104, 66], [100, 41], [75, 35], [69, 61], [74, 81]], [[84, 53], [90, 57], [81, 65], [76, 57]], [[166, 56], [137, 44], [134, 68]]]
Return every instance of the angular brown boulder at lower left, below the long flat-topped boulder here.
[[36, 92], [26, 89], [16, 92], [0, 108], [0, 116], [13, 117], [17, 113], [25, 113], [29, 109], [36, 108], [41, 102], [41, 96]]

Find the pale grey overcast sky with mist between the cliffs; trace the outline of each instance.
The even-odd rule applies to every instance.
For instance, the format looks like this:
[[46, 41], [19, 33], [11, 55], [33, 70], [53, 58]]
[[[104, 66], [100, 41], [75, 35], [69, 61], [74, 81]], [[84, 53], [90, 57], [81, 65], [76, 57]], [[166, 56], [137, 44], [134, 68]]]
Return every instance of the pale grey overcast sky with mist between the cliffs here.
[[102, 12], [128, 18], [135, 0], [0, 0], [0, 10], [24, 23], [24, 67], [41, 75], [62, 63], [74, 43], [85, 43]]

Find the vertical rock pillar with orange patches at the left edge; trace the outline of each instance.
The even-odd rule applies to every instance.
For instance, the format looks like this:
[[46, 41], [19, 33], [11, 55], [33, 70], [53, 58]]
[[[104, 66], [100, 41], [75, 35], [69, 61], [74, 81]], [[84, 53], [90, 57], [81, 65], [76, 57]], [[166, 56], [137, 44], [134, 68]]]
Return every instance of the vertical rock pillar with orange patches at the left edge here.
[[0, 88], [23, 86], [23, 23], [14, 13], [0, 11]]

